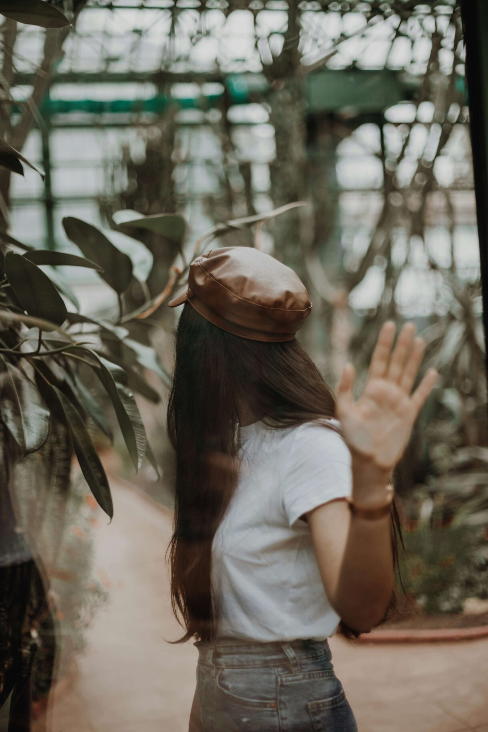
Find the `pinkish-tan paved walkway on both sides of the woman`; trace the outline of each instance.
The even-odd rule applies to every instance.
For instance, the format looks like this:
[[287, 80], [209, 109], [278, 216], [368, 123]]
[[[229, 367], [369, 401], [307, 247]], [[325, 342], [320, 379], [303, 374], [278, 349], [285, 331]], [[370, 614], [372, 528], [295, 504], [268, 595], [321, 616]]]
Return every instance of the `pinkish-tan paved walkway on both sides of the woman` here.
[[[164, 553], [170, 515], [111, 482], [115, 517], [97, 530], [97, 572], [110, 602], [94, 620], [72, 690], [50, 732], [187, 732], [196, 651], [178, 638]], [[488, 732], [488, 639], [353, 646], [331, 640], [359, 732]]]

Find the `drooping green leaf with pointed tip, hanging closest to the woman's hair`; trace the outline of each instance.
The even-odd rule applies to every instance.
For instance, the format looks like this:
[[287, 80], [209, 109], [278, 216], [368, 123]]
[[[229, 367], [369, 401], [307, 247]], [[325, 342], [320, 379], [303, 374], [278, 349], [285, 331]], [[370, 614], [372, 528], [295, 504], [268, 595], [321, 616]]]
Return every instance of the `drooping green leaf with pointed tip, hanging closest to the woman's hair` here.
[[91, 353], [96, 356], [99, 363], [100, 368], [95, 369], [95, 373], [112, 400], [122, 436], [137, 473], [146, 453], [146, 430], [134, 395], [125, 386], [127, 376], [121, 367], [104, 359], [95, 351], [91, 351]]

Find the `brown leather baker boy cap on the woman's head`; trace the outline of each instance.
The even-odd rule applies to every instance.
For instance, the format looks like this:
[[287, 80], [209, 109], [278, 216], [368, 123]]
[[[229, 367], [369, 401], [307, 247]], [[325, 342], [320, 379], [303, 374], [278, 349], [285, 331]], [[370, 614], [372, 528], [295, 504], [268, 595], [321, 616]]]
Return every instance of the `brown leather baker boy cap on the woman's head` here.
[[251, 340], [293, 340], [312, 309], [293, 269], [251, 247], [213, 249], [189, 267], [188, 301], [214, 325]]

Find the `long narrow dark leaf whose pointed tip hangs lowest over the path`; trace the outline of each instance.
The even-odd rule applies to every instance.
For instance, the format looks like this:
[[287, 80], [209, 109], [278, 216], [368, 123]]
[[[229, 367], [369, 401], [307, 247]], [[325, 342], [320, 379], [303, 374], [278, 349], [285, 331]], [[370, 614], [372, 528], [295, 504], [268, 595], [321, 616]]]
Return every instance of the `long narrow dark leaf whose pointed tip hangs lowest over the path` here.
[[40, 376], [39, 372], [37, 386], [54, 416], [70, 429], [76, 457], [91, 493], [105, 513], [113, 518], [112, 496], [107, 476], [97, 455], [97, 450], [83, 425], [83, 419], [70, 400], [56, 386], [49, 384], [45, 378]]

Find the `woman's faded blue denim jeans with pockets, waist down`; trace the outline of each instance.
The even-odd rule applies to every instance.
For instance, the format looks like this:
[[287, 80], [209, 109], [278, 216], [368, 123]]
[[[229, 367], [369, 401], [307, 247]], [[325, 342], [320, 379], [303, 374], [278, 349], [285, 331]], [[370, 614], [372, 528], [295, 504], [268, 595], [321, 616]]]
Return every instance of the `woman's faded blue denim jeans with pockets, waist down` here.
[[195, 646], [204, 732], [357, 732], [327, 641]]

